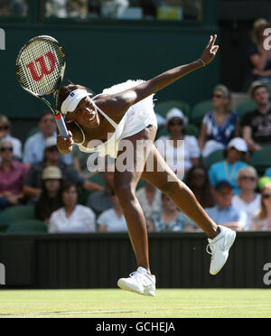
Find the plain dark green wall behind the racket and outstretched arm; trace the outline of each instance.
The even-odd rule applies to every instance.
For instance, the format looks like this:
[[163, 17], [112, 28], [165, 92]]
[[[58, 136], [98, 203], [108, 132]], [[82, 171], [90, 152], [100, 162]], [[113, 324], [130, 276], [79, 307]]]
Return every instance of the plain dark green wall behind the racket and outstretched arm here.
[[[45, 107], [20, 88], [15, 76], [16, 55], [33, 36], [49, 34], [58, 39], [67, 57], [65, 79], [98, 93], [126, 79], [150, 79], [198, 59], [210, 33], [218, 32], [215, 24], [5, 22], [0, 27], [6, 35], [6, 50], [0, 51], [0, 113], [22, 119], [38, 117]], [[220, 56], [207, 68], [164, 89], [156, 98], [181, 99], [193, 105], [210, 98], [219, 81]]]

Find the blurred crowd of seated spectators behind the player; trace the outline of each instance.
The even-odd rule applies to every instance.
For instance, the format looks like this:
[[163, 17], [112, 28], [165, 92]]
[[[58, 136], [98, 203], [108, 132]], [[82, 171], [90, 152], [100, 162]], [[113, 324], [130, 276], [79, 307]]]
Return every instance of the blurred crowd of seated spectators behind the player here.
[[[264, 82], [252, 83], [249, 92], [257, 110], [248, 111], [241, 120], [229, 110], [229, 89], [219, 85], [213, 92], [213, 111], [202, 118], [198, 138], [185, 134], [188, 117], [173, 107], [164, 119], [168, 135], [154, 144], [175, 173], [180, 171], [178, 164], [184, 166], [184, 181], [211, 219], [236, 230], [271, 229], [271, 167], [259, 179], [249, 164], [253, 152], [270, 145], [268, 87]], [[0, 116], [0, 211], [32, 204], [35, 218], [46, 223], [51, 233], [127, 231], [114, 190], [114, 162], [107, 163], [105, 173], [89, 173], [87, 154], [76, 147], [73, 155], [59, 153], [51, 113], [43, 113], [37, 126], [22, 151], [21, 141], [11, 135], [10, 121]], [[207, 147], [209, 155], [224, 151], [224, 158], [208, 169]], [[98, 174], [102, 183], [93, 181]], [[136, 197], [149, 231], [197, 230], [173, 201], [149, 183], [136, 191]]]

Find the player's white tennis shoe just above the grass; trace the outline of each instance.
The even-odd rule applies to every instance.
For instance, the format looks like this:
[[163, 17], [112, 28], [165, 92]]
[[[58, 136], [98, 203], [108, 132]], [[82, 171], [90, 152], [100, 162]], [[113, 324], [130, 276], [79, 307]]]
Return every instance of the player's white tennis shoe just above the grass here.
[[155, 276], [149, 275], [144, 267], [117, 281], [119, 288], [137, 294], [155, 296]]

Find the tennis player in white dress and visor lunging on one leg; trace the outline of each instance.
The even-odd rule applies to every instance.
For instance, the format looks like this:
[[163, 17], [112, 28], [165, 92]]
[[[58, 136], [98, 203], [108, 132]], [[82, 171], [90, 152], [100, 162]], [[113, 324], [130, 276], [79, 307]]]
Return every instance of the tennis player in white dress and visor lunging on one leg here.
[[[129, 140], [134, 149], [134, 167], [142, 168], [127, 169], [124, 172], [116, 169], [114, 176], [115, 191], [126, 218], [138, 267], [127, 278], [118, 280], [117, 285], [122, 289], [137, 294], [155, 295], [155, 276], [151, 274], [149, 265], [145, 217], [135, 197], [136, 185], [141, 177], [168, 195], [206, 233], [209, 238], [211, 275], [218, 274], [225, 265], [229, 248], [236, 238], [234, 231], [218, 226], [210, 219], [192, 191], [178, 180], [153, 144], [157, 130], [154, 93], [213, 61], [219, 50], [219, 45], [215, 44], [216, 39], [217, 35], [210, 36], [201, 59], [168, 70], [154, 79], [137, 82], [128, 80], [105, 89], [95, 98], [90, 98], [87, 89], [79, 85], [68, 85], [60, 90], [58, 108], [65, 116], [70, 133], [69, 139], [58, 136], [58, 148], [62, 154], [70, 153], [75, 143], [83, 152], [98, 152], [101, 156], [109, 154], [118, 158], [125, 153], [122, 143]], [[94, 140], [99, 140], [100, 145], [89, 145]], [[138, 142], [152, 144], [148, 154], [139, 154]], [[152, 157], [154, 161], [151, 172], [146, 169], [148, 157]], [[158, 167], [164, 167], [164, 170]]]

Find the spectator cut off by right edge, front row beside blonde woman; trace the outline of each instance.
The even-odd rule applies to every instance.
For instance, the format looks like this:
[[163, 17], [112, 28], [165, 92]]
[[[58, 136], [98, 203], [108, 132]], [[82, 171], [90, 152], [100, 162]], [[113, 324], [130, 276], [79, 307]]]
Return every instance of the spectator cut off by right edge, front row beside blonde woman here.
[[266, 183], [261, 191], [260, 210], [252, 216], [251, 230], [271, 230], [271, 183]]

